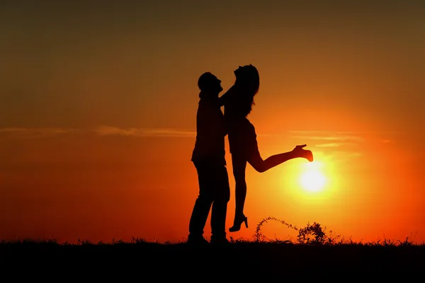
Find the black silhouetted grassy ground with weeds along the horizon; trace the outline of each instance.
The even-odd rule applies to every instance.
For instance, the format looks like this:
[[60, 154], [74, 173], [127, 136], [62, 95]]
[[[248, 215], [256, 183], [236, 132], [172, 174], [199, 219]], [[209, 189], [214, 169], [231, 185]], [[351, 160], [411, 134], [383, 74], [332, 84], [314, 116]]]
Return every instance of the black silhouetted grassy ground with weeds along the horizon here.
[[[268, 221], [278, 221], [298, 231], [296, 240], [281, 241], [263, 236], [261, 228]], [[158, 243], [141, 238], [111, 243], [78, 241], [77, 244], [23, 239], [0, 242], [0, 258], [11, 265], [11, 270], [13, 267], [27, 271], [38, 265], [45, 267], [42, 278], [56, 270], [66, 275], [84, 273], [86, 279], [90, 275], [99, 279], [115, 274], [120, 282], [128, 281], [123, 279], [126, 276], [139, 279], [140, 276], [153, 276], [149, 282], [162, 279], [227, 282], [232, 278], [239, 282], [257, 277], [265, 282], [287, 279], [344, 282], [353, 277], [365, 280], [372, 275], [380, 279], [402, 276], [400, 278], [405, 281], [425, 272], [424, 243], [417, 244], [409, 238], [354, 242], [332, 231], [327, 233], [326, 227], [316, 222], [297, 229], [285, 221], [268, 217], [259, 222], [253, 238], [230, 240], [231, 245], [227, 246], [193, 247], [186, 241]], [[6, 265], [0, 266], [9, 270]], [[40, 268], [37, 270], [40, 272]]]

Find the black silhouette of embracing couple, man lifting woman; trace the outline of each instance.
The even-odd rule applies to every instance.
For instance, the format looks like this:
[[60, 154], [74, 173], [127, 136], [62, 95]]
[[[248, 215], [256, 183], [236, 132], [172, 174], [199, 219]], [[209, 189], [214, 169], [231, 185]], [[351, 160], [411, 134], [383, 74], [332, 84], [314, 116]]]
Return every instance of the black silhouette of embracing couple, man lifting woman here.
[[[188, 243], [191, 244], [229, 243], [225, 227], [227, 203], [230, 199], [225, 160], [226, 135], [232, 155], [236, 202], [233, 226], [229, 228], [229, 232], [239, 231], [242, 224], [248, 228], [248, 218], [244, 214], [246, 163], [262, 173], [293, 158], [313, 161], [312, 152], [303, 149], [305, 144], [265, 160], [261, 158], [255, 127], [247, 118], [254, 105], [254, 96], [259, 91], [259, 71], [249, 64], [239, 66], [234, 75], [234, 85], [220, 97], [219, 94], [223, 90], [220, 79], [210, 72], [205, 72], [198, 79], [200, 100], [196, 114], [196, 142], [191, 161], [198, 173], [199, 195], [189, 222]], [[208, 242], [203, 233], [210, 210], [211, 238]]]

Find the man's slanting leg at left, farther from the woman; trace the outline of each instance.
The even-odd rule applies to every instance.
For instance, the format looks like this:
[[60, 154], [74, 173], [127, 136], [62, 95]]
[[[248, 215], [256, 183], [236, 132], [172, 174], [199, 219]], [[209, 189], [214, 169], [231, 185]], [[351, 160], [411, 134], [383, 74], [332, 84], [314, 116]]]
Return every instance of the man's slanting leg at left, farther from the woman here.
[[203, 229], [210, 213], [214, 192], [214, 175], [211, 174], [209, 166], [196, 163], [198, 171], [199, 195], [193, 207], [191, 221], [189, 222], [188, 241], [204, 241]]

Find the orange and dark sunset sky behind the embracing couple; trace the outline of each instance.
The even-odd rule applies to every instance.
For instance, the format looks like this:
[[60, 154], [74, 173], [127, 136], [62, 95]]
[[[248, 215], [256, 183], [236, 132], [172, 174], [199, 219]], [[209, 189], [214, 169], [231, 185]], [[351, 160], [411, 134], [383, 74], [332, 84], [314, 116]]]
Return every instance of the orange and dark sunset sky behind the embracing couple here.
[[[0, 239], [183, 241], [198, 76], [226, 91], [253, 64], [261, 156], [307, 144], [315, 161], [247, 166], [249, 229], [228, 238], [275, 216], [355, 241], [425, 241], [424, 4], [135, 2], [1, 2]], [[228, 229], [227, 138], [226, 153]], [[319, 191], [302, 185], [309, 166]]]

